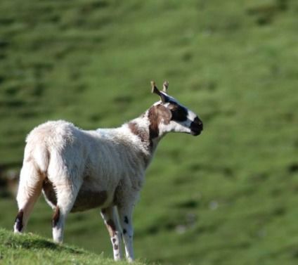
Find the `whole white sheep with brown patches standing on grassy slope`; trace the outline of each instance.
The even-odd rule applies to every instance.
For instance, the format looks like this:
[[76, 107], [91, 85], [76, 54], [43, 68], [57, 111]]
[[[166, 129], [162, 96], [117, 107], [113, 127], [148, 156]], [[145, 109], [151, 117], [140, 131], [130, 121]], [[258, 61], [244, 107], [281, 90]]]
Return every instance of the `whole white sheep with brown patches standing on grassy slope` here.
[[115, 129], [85, 131], [63, 120], [34, 128], [26, 139], [14, 232], [25, 230], [41, 192], [53, 209], [53, 241], [63, 242], [70, 212], [100, 208], [115, 260], [134, 260], [132, 213], [160, 139], [168, 132], [197, 136], [202, 121], [151, 82], [160, 96], [143, 115]]

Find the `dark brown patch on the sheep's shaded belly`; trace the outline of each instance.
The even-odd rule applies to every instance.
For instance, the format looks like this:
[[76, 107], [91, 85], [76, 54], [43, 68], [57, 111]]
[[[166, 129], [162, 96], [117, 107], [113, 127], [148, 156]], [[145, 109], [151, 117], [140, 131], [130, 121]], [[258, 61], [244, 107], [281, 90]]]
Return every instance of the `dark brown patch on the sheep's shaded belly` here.
[[82, 212], [87, 209], [100, 207], [108, 200], [108, 192], [106, 190], [79, 190], [77, 199], [70, 212]]

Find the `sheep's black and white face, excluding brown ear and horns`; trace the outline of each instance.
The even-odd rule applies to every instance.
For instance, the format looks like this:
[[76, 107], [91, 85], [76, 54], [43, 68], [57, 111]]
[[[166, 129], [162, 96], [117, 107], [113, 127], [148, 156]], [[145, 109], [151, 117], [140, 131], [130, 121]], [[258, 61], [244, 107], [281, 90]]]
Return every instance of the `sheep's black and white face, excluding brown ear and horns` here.
[[162, 101], [157, 104], [162, 105], [170, 112], [169, 122], [160, 124], [161, 129], [165, 132], [173, 131], [192, 134], [193, 136], [200, 135], [203, 129], [203, 124], [195, 112], [181, 105], [179, 101], [167, 95], [167, 93], [164, 93], [163, 91], [160, 91], [160, 93], [162, 93]]

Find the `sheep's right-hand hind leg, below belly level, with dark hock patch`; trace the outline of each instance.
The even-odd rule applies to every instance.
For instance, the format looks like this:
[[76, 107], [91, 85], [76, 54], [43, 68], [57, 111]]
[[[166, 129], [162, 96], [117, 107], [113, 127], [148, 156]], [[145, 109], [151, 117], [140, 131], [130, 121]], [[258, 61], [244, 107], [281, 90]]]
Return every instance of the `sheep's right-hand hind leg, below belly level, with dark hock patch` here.
[[65, 227], [65, 220], [67, 214], [72, 209], [74, 202], [79, 192], [78, 186], [70, 186], [69, 183], [56, 183], [56, 196], [57, 205], [53, 214], [52, 227], [53, 227], [53, 241], [56, 243], [63, 242], [63, 233]]

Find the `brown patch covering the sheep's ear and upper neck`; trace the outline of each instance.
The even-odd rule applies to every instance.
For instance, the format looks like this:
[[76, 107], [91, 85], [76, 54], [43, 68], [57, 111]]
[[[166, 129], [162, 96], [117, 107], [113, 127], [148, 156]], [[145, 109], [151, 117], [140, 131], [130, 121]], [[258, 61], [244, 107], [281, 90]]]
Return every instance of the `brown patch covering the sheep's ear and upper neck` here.
[[160, 122], [169, 124], [171, 121], [171, 111], [165, 108], [163, 105], [154, 105], [148, 111], [149, 134], [150, 134], [150, 146], [153, 147], [153, 139], [160, 135], [159, 125]]

